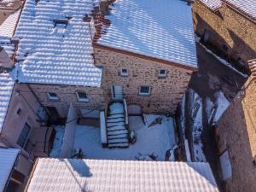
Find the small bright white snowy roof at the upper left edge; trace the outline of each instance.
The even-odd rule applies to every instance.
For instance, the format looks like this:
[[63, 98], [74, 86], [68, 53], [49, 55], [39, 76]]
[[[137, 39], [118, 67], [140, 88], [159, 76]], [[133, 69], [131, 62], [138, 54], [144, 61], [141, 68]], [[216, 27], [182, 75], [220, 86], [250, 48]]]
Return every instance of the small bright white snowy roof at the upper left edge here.
[[15, 44], [11, 43], [11, 38], [13, 37], [19, 15], [20, 9], [9, 15], [0, 25], [0, 46], [5, 49], [10, 57], [15, 53]]

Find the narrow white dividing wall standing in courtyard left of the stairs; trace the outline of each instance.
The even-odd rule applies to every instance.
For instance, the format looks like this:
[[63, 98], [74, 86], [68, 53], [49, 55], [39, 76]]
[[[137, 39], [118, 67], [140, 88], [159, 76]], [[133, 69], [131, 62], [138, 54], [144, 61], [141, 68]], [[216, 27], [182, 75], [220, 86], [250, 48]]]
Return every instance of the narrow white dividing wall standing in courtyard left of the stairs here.
[[75, 137], [75, 130], [78, 121], [78, 115], [73, 104], [70, 104], [70, 108], [67, 115], [67, 123], [65, 127], [65, 133], [63, 137], [63, 143], [61, 146], [60, 158], [70, 158], [73, 153], [73, 141]]

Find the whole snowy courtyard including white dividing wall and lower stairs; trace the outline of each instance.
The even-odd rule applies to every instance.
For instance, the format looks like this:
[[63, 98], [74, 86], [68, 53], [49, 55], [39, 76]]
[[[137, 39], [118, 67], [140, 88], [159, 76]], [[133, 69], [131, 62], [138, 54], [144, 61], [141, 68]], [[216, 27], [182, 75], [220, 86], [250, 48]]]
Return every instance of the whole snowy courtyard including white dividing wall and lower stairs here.
[[[106, 114], [107, 119], [109, 113]], [[94, 125], [89, 118], [79, 120], [75, 108], [71, 106], [66, 127], [55, 127], [55, 143], [50, 156], [94, 160], [176, 160], [177, 137], [172, 117], [143, 113], [127, 117], [127, 145], [125, 137], [122, 137], [125, 136], [122, 132], [126, 130], [115, 131], [120, 138], [109, 136], [108, 120], [105, 122], [106, 145], [100, 120], [96, 119]]]

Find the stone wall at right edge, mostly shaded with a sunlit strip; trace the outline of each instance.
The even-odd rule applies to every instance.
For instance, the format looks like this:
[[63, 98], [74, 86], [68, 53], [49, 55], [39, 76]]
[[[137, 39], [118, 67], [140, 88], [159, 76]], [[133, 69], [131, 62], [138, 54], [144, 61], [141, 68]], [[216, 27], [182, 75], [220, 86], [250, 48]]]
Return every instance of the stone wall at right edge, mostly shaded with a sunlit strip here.
[[255, 192], [256, 189], [255, 98], [256, 84], [251, 83], [231, 102], [217, 125], [219, 152], [228, 149], [232, 166], [232, 177], [225, 181], [227, 192]]

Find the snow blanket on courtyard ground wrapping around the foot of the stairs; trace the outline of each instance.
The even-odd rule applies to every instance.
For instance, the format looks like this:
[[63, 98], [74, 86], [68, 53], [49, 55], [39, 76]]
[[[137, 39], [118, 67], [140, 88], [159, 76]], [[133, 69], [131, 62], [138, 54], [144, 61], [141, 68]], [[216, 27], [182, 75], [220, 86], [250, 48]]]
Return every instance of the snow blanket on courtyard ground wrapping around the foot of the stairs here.
[[[161, 125], [151, 125], [154, 119], [163, 117]], [[175, 148], [175, 131], [173, 119], [160, 115], [145, 115], [129, 117], [130, 128], [136, 131], [137, 142], [129, 148], [102, 148], [100, 128], [77, 125], [73, 149], [81, 148], [85, 158], [96, 160], [165, 160], [166, 151]], [[173, 158], [173, 157], [172, 157]]]

